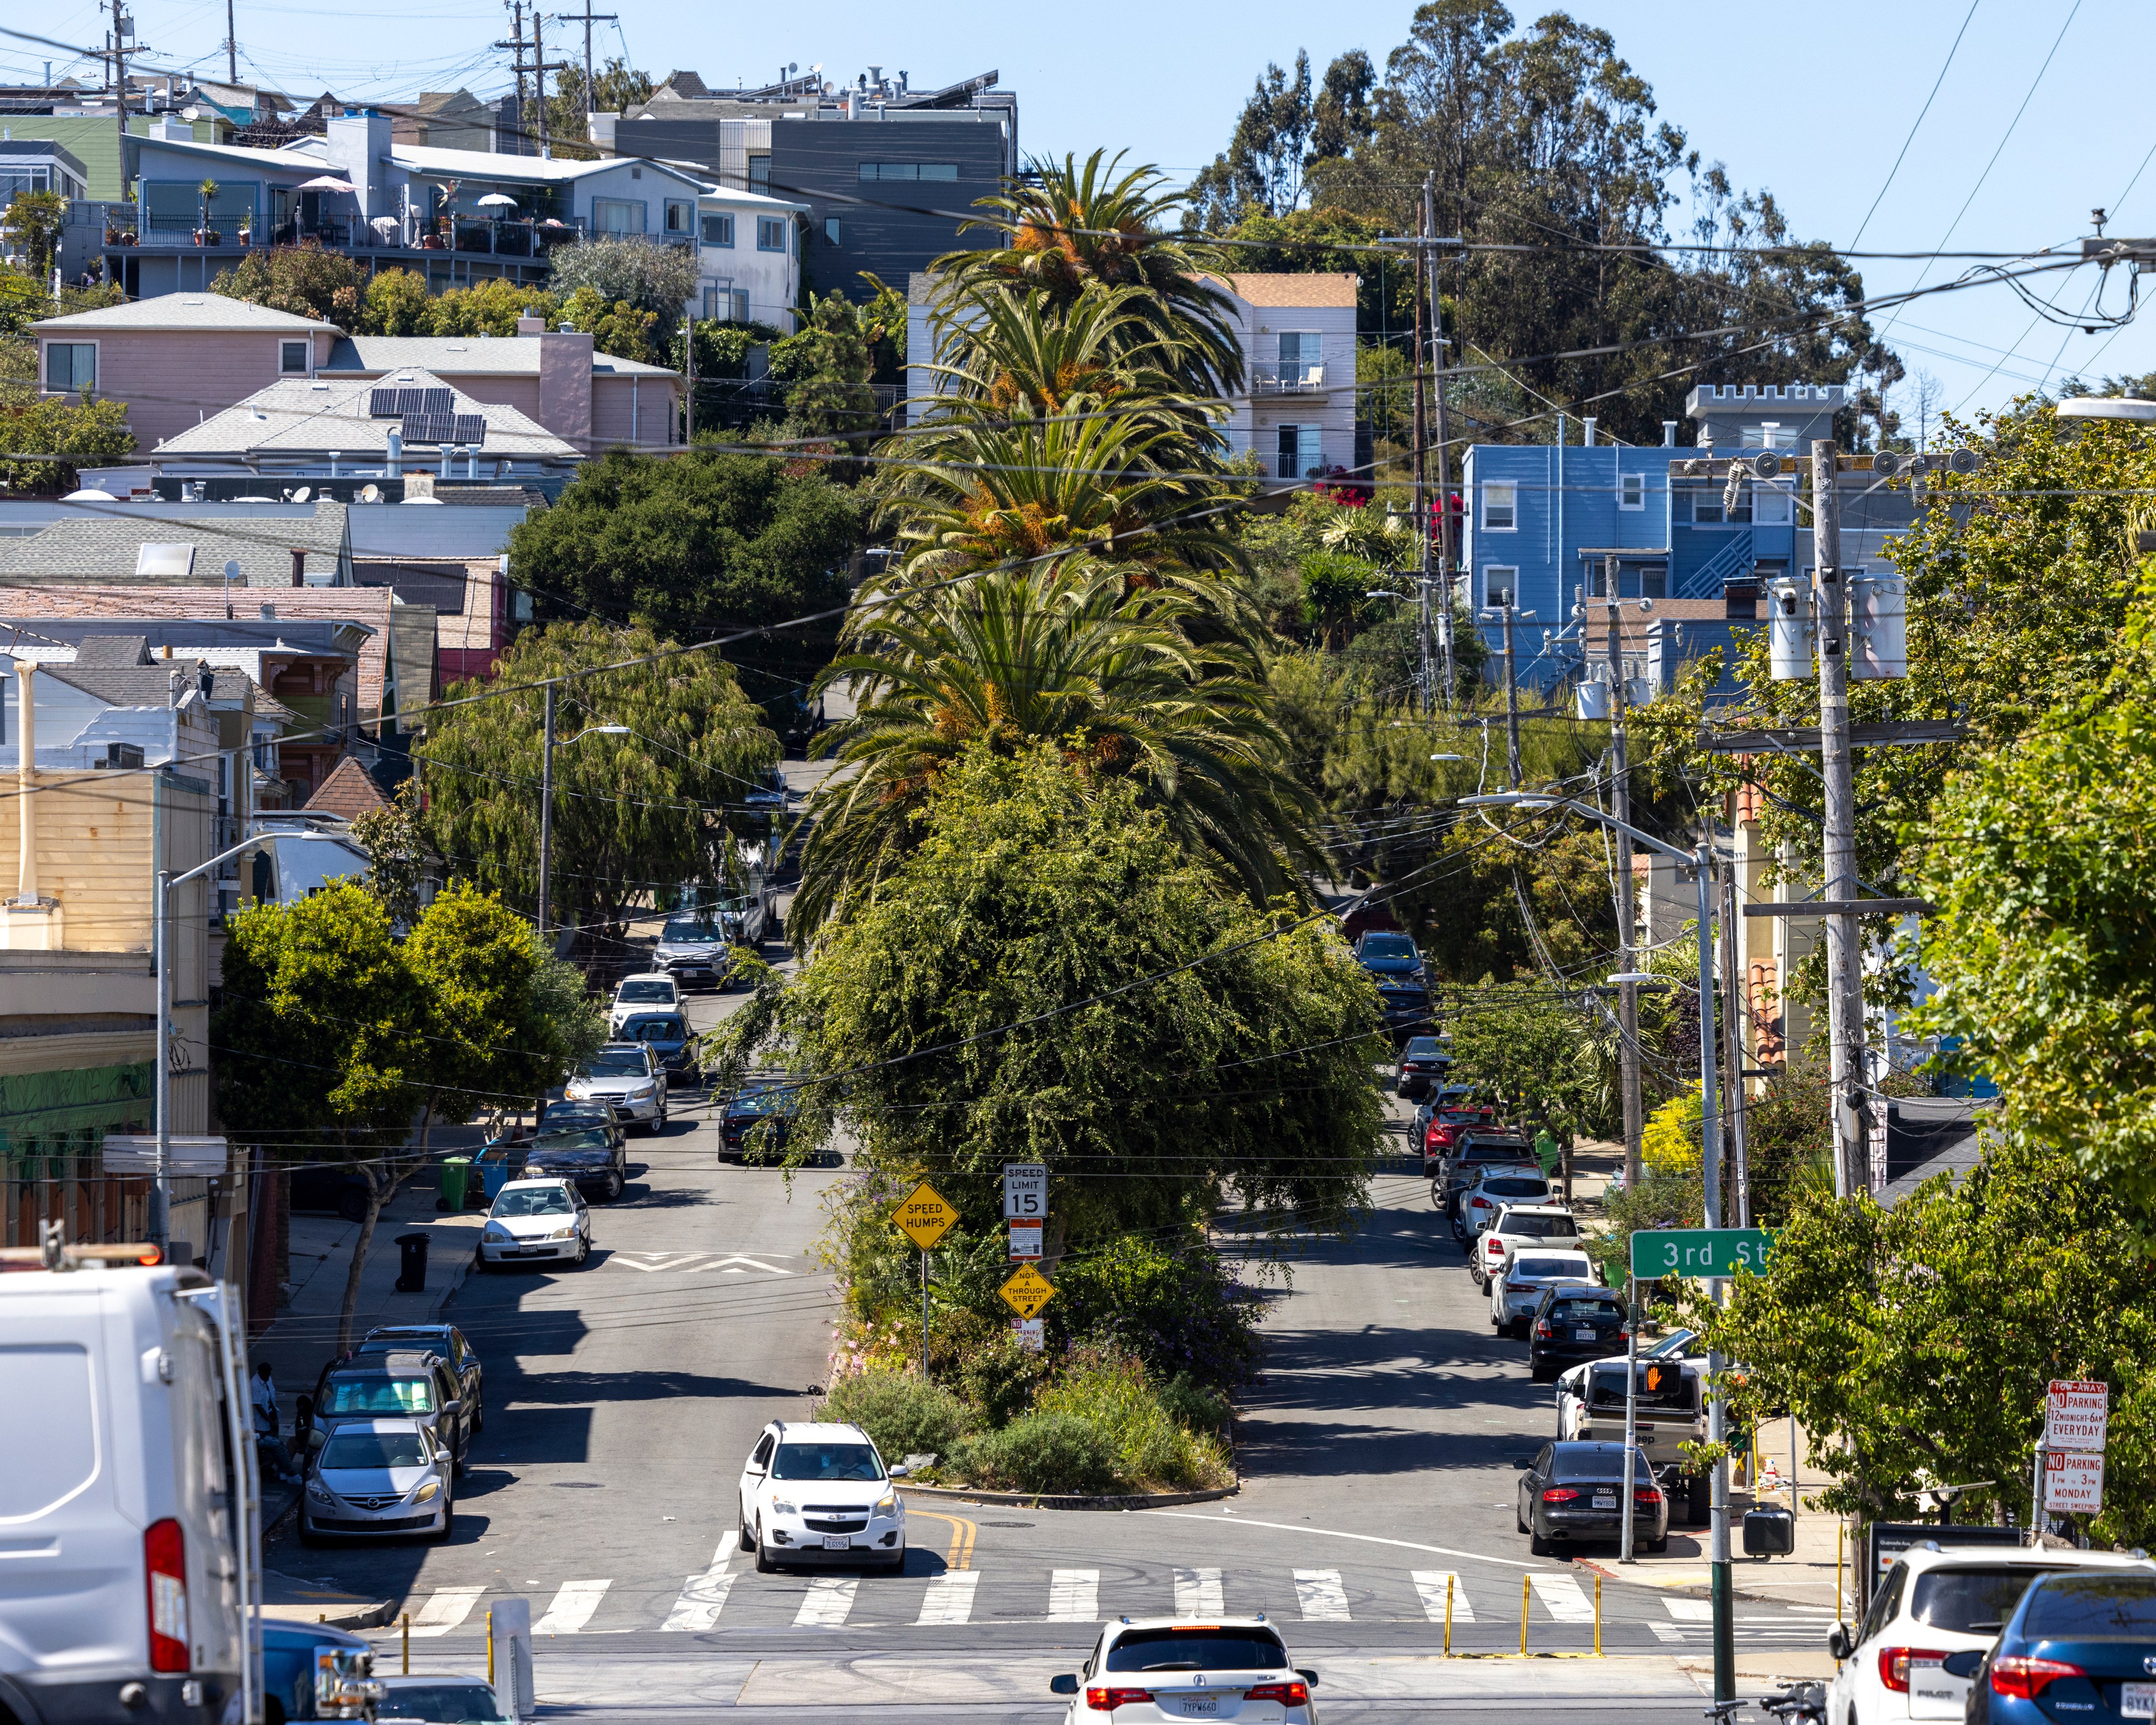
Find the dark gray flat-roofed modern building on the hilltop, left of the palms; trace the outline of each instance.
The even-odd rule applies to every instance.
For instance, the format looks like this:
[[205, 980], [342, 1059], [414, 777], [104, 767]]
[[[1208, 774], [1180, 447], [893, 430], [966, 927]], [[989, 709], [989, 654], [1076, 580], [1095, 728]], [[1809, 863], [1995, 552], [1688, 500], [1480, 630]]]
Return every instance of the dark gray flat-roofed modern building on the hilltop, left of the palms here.
[[718, 185], [808, 205], [802, 285], [867, 298], [862, 272], [906, 278], [959, 246], [972, 201], [1020, 168], [1018, 95], [990, 71], [934, 91], [869, 67], [852, 84], [821, 67], [761, 88], [711, 88], [677, 71], [625, 114], [595, 114], [593, 138], [619, 155], [694, 164]]

